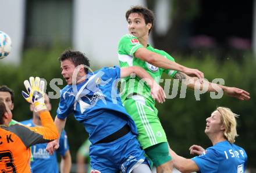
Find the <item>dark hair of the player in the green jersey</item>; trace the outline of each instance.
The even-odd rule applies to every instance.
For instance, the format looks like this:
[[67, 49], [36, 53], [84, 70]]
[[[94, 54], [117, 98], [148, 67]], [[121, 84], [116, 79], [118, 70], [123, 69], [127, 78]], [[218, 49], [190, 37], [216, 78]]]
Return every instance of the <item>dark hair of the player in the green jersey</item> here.
[[[127, 10], [125, 13], [125, 17], [127, 21], [131, 13], [138, 13], [139, 15], [142, 15], [145, 20], [145, 24], [151, 23], [153, 27], [155, 17], [154, 17], [154, 12], [152, 12], [152, 10], [140, 5], [131, 6], [131, 8]], [[152, 27], [148, 31], [148, 34], [150, 34]]]

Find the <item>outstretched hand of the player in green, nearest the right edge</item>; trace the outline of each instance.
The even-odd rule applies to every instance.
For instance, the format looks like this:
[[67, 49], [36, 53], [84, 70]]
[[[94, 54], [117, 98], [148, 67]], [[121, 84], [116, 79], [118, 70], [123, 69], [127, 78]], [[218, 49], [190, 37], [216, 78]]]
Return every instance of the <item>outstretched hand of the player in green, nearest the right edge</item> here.
[[225, 91], [228, 96], [237, 98], [239, 100], [249, 100], [250, 93], [244, 91], [243, 89], [235, 88], [235, 87], [228, 87]]

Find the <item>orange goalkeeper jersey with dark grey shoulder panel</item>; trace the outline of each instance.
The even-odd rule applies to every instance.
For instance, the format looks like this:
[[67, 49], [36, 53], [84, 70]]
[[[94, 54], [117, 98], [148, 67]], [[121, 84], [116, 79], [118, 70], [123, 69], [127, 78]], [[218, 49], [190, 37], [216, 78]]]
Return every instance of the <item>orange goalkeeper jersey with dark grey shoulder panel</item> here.
[[49, 111], [40, 113], [42, 127], [0, 126], [0, 172], [30, 172], [30, 146], [59, 137]]

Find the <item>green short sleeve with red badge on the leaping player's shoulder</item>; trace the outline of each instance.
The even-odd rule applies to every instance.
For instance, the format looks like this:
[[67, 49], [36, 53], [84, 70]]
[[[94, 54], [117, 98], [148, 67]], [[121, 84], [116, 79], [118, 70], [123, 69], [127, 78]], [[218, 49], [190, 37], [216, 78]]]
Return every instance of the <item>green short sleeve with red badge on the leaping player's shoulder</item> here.
[[140, 44], [136, 37], [131, 34], [126, 34], [119, 41], [118, 53], [120, 55], [133, 56], [138, 48], [144, 48], [144, 46]]

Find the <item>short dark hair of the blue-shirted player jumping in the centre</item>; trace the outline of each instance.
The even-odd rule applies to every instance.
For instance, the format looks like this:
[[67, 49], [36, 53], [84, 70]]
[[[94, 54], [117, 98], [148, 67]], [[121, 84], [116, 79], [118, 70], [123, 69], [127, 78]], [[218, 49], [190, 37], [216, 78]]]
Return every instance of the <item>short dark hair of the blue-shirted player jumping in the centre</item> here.
[[[60, 62], [63, 62], [63, 60], [70, 60], [72, 63], [74, 63], [74, 66], [79, 65], [86, 65], [87, 67], [90, 67], [90, 60], [84, 55], [84, 53], [81, 53], [79, 51], [71, 51], [67, 50], [64, 51], [61, 56], [59, 56], [58, 60]], [[88, 73], [88, 68], [84, 67], [84, 71], [86, 74]]]

